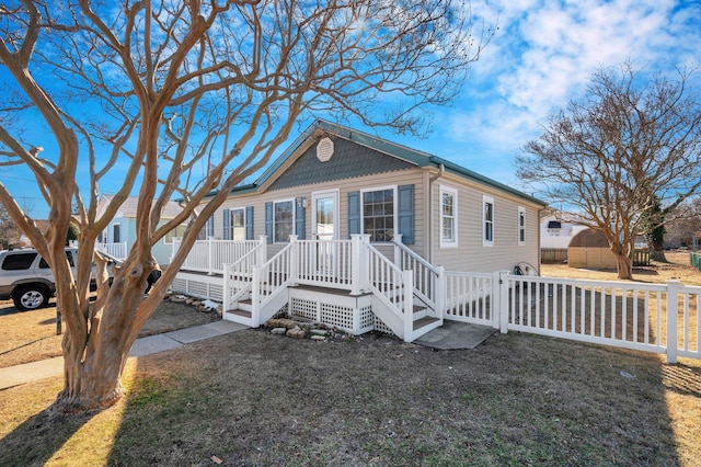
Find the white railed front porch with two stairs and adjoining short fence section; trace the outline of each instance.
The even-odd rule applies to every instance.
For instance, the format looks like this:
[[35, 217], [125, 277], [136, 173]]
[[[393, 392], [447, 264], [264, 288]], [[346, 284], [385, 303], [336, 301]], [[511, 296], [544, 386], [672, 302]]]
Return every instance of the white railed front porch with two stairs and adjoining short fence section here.
[[251, 327], [281, 311], [352, 334], [391, 332], [406, 342], [446, 318], [496, 327], [486, 298], [493, 275], [446, 274], [404, 246], [401, 236], [379, 249], [363, 235], [350, 240], [290, 236], [281, 251], [267, 257], [265, 237], [198, 242], [173, 289], [221, 301], [223, 319]]

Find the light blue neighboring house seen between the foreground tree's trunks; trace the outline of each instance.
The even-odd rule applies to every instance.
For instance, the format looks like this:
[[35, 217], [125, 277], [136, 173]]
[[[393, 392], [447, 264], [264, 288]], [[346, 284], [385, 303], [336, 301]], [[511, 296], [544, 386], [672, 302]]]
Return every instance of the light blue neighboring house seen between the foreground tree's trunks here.
[[[106, 207], [112, 203], [113, 195], [101, 195], [97, 202], [97, 215], [102, 215]], [[126, 258], [129, 249], [136, 241], [136, 212], [139, 198], [130, 196], [122, 204], [114, 219], [110, 223], [97, 242], [106, 252], [119, 259]], [[175, 202], [169, 202], [161, 216], [161, 225], [172, 219], [181, 212], [181, 207]], [[182, 225], [174, 231], [159, 240], [152, 248], [156, 261], [161, 265], [170, 263], [171, 253], [173, 251], [173, 238], [182, 237], [185, 231], [185, 225]]]

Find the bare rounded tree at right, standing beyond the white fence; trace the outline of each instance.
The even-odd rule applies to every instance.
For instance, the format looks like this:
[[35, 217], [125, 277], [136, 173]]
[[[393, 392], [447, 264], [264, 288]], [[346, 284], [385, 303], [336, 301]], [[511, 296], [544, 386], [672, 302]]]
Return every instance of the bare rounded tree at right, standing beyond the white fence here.
[[519, 176], [606, 235], [619, 278], [632, 278], [635, 236], [701, 186], [701, 101], [689, 77], [646, 80], [630, 64], [600, 70], [517, 158]]

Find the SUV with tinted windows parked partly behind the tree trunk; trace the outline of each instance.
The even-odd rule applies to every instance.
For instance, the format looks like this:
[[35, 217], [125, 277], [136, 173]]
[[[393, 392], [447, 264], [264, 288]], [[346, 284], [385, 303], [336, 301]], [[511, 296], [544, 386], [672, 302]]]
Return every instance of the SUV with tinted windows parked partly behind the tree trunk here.
[[[66, 258], [76, 274], [78, 250], [66, 248]], [[118, 260], [110, 260], [118, 264]], [[112, 267], [108, 271], [112, 275]], [[55, 292], [54, 273], [36, 250], [0, 251], [0, 300], [12, 298], [18, 309], [33, 310], [47, 306]]]

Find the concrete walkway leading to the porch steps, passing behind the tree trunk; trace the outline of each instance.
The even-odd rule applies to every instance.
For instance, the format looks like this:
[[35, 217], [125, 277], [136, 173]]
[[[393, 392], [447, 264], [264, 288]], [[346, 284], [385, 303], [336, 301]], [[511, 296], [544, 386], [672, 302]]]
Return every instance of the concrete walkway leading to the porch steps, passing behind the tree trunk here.
[[[134, 343], [129, 356], [143, 356], [177, 349], [186, 344], [192, 344], [193, 342], [229, 334], [243, 329], [248, 329], [248, 327], [231, 321], [215, 321], [207, 324], [165, 332], [163, 334], [139, 338]], [[62, 373], [62, 356], [0, 368], [0, 390], [51, 376], [60, 376]]]

